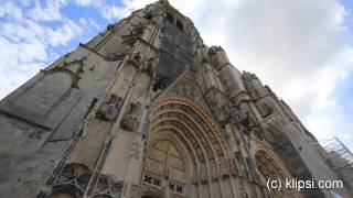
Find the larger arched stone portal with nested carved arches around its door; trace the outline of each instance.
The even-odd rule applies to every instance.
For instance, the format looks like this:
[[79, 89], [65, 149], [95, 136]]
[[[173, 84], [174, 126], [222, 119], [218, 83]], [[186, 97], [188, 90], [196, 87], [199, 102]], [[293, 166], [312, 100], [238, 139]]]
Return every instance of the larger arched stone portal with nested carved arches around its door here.
[[170, 94], [149, 119], [141, 196], [234, 197], [229, 145], [200, 103]]

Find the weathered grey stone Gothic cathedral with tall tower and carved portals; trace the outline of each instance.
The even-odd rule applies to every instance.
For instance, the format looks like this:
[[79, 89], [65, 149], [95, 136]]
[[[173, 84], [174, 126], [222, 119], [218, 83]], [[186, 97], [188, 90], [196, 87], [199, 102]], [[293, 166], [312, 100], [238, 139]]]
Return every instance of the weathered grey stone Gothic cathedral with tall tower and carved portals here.
[[109, 24], [0, 102], [0, 197], [351, 197], [256, 75], [167, 0]]

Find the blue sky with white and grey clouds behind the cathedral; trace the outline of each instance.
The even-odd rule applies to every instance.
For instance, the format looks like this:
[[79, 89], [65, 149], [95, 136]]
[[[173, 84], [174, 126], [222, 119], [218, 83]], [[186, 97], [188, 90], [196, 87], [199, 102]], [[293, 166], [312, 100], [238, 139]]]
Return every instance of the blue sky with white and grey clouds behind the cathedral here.
[[[0, 98], [151, 0], [0, 0]], [[215, 3], [216, 2], [216, 3]], [[170, 0], [284, 98], [319, 139], [353, 150], [353, 1]]]

